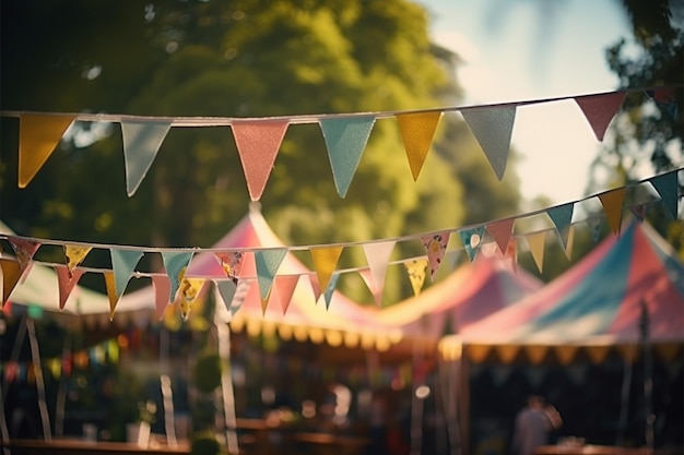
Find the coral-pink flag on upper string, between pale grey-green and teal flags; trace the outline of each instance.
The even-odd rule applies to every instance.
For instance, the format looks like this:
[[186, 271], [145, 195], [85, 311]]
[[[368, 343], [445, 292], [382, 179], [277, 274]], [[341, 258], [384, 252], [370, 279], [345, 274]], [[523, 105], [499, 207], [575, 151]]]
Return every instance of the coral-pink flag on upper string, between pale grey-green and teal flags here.
[[231, 124], [252, 201], [261, 199], [288, 124], [287, 120], [235, 121]]

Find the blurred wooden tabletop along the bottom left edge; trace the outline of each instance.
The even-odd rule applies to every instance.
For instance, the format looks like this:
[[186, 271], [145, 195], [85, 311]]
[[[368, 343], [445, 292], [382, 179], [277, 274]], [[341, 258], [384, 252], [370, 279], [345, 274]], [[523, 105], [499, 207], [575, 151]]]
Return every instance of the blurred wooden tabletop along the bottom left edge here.
[[143, 448], [131, 442], [90, 442], [80, 439], [54, 439], [52, 441], [10, 440], [8, 443], [0, 442], [0, 446], [2, 445], [9, 447], [12, 451], [12, 455], [142, 455], [151, 453], [177, 455], [190, 453], [188, 443], [178, 443], [175, 447], [165, 444], [151, 444], [150, 447]]

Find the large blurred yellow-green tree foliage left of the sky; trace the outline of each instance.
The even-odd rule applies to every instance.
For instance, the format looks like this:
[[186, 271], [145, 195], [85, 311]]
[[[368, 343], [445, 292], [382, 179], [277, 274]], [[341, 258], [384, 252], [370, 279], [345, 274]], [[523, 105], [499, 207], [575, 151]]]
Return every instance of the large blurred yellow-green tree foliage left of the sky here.
[[[408, 0], [1, 8], [3, 110], [267, 117], [437, 107], [460, 93], [455, 56], [431, 44], [425, 11]], [[229, 127], [173, 128], [130, 199], [119, 124], [76, 122], [25, 190], [16, 189], [17, 120], [2, 118], [2, 133], [0, 215], [25, 235], [209, 247], [247, 212]], [[462, 153], [481, 154], [472, 144]], [[413, 182], [396, 122], [379, 119], [341, 199], [320, 129], [293, 124], [262, 212], [291, 244], [458, 226], [467, 208], [452, 158], [431, 154]]]

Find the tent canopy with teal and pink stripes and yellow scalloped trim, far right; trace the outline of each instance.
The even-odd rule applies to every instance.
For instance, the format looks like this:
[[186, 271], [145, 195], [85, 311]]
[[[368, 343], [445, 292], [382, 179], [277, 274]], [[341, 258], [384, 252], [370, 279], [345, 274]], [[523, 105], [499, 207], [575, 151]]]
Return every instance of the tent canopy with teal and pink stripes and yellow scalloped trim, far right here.
[[611, 347], [640, 340], [663, 352], [684, 344], [684, 265], [647, 223], [630, 221], [573, 268], [520, 302], [441, 342], [447, 358], [463, 347], [472, 361], [496, 351], [514, 360], [521, 350], [541, 362], [553, 350], [562, 363], [580, 348], [597, 360]]

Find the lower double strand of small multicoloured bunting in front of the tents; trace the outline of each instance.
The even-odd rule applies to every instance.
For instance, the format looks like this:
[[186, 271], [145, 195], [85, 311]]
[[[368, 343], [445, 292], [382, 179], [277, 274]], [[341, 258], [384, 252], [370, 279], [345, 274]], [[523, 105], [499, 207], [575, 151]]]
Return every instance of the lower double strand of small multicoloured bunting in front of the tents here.
[[[608, 223], [613, 235], [620, 235], [623, 212], [626, 206], [637, 219], [644, 219], [648, 206], [653, 201], [635, 202], [625, 204], [625, 194], [628, 188], [640, 184], [649, 184], [660, 196], [656, 200], [664, 205], [673, 218], [677, 218], [677, 205], [681, 195], [679, 191], [680, 168], [664, 172], [639, 182], [615, 188], [609, 191], [586, 196], [580, 200], [552, 206], [544, 209], [529, 212], [514, 217], [502, 218], [479, 225], [463, 226], [446, 229], [437, 232], [424, 232], [415, 236], [404, 236], [391, 239], [374, 240], [368, 242], [352, 242], [337, 244], [317, 244], [282, 248], [145, 248], [130, 246], [114, 246], [102, 243], [84, 243], [61, 240], [46, 240], [14, 235], [0, 235], [0, 239], [10, 243], [14, 258], [0, 258], [0, 271], [2, 272], [2, 304], [8, 301], [12, 290], [25, 277], [32, 263], [38, 262], [55, 270], [59, 283], [59, 309], [63, 310], [70, 294], [79, 279], [85, 273], [98, 273], [104, 276], [107, 296], [109, 299], [110, 318], [114, 318], [116, 306], [122, 297], [129, 280], [135, 277], [150, 277], [155, 288], [157, 315], [163, 316], [165, 308], [180, 298], [180, 311], [187, 318], [192, 302], [200, 294], [203, 286], [211, 282], [215, 285], [219, 294], [232, 314], [239, 310], [241, 300], [246, 295], [246, 288], [256, 284], [258, 286], [262, 310], [271, 298], [274, 282], [279, 283], [280, 292], [283, 289], [294, 290], [302, 275], [279, 275], [279, 267], [285, 256], [293, 251], [305, 251], [311, 256], [314, 272], [307, 274], [316, 300], [323, 296], [328, 308], [332, 291], [342, 273], [358, 273], [364, 278], [368, 289], [376, 298], [378, 306], [385, 286], [385, 274], [390, 264], [403, 264], [415, 295], [420, 294], [426, 277], [429, 275], [435, 280], [435, 275], [445, 263], [456, 265], [455, 258], [465, 251], [470, 261], [485, 249], [494, 251], [504, 258], [508, 258], [515, 264], [517, 262], [518, 244], [527, 246], [535, 265], [541, 271], [543, 267], [544, 250], [547, 241], [546, 234], [553, 231], [557, 241], [566, 254], [571, 254], [574, 229], [578, 224], [586, 224], [592, 232], [594, 241], [599, 241], [601, 224]], [[598, 199], [603, 208], [603, 215], [591, 215], [582, 220], [573, 220], [575, 206], [583, 201]], [[533, 232], [515, 234], [516, 221], [536, 215], [545, 215], [553, 227]], [[462, 243], [462, 248], [447, 251], [452, 235]], [[390, 261], [391, 253], [398, 242], [420, 241], [425, 255], [418, 258]], [[1, 248], [0, 243], [0, 248]], [[63, 263], [47, 263], [35, 261], [34, 255], [42, 246], [57, 246], [63, 249]], [[338, 261], [346, 248], [362, 247], [367, 263], [352, 268], [338, 268]], [[111, 268], [93, 268], [82, 263], [93, 250], [108, 250]], [[198, 254], [213, 254], [222, 266], [225, 276], [186, 276], [192, 259]], [[145, 254], [161, 254], [164, 264], [164, 273], [146, 273], [138, 271], [138, 264]], [[256, 274], [243, 273], [243, 265], [247, 256], [253, 259]], [[288, 282], [288, 286], [280, 286]], [[286, 284], [286, 283], [285, 283]], [[287, 294], [287, 291], [285, 291]], [[240, 300], [241, 299], [241, 300]], [[280, 296], [281, 301], [288, 301], [287, 296]], [[283, 308], [285, 312], [286, 304]]]

